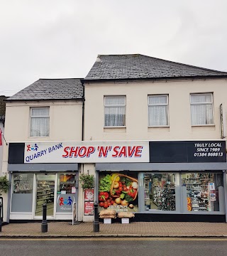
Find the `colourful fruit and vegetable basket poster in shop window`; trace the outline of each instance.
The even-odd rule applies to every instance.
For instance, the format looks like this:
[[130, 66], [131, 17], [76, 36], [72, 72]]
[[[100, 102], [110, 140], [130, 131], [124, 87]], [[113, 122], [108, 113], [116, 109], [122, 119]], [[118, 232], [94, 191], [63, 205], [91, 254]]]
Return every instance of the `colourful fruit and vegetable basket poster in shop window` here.
[[138, 174], [99, 174], [99, 211], [138, 211]]

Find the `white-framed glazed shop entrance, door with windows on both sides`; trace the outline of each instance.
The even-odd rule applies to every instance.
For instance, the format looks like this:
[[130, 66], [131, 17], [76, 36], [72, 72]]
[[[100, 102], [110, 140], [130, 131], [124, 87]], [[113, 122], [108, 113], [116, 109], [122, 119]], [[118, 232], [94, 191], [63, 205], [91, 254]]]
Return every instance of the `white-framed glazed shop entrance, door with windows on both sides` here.
[[77, 201], [77, 173], [20, 173], [13, 174], [11, 213], [28, 218], [41, 218], [43, 204], [47, 204], [48, 218], [55, 214], [72, 213]]

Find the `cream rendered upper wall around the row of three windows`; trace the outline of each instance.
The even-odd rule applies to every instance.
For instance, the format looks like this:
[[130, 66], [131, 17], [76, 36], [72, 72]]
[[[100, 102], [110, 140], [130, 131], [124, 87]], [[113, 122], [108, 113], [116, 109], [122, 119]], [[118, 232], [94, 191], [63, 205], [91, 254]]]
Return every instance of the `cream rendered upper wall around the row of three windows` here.
[[[200, 92], [214, 93], [214, 125], [192, 127], [190, 93]], [[84, 140], [221, 139], [226, 93], [225, 79], [85, 84]], [[170, 127], [148, 127], [148, 95], [160, 94], [169, 95]], [[104, 128], [104, 96], [110, 95], [126, 95], [126, 128]]]

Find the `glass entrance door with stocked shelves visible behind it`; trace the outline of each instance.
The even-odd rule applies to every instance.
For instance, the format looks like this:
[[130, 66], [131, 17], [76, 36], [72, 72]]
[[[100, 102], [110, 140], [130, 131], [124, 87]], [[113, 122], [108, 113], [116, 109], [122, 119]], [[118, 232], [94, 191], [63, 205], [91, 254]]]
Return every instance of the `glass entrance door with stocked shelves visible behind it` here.
[[43, 203], [47, 204], [47, 215], [54, 215], [55, 174], [36, 174], [35, 216], [43, 215]]

